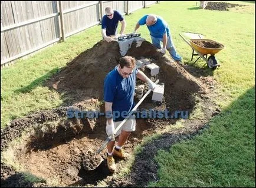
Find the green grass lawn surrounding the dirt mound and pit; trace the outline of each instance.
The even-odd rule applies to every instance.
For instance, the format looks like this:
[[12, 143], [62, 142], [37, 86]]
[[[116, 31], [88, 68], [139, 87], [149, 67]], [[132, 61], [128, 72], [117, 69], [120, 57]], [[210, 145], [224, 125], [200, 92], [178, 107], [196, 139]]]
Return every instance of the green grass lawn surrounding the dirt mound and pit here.
[[[213, 75], [221, 84], [220, 97], [215, 98], [221, 114], [209, 121], [209, 130], [200, 136], [175, 144], [168, 152], [160, 150], [156, 156], [160, 180], [149, 186], [255, 186], [255, 4], [235, 3], [248, 6], [209, 11], [198, 9], [196, 2], [160, 2], [125, 16], [126, 32], [132, 32], [145, 14], [162, 16], [183, 61], [205, 70], [205, 75]], [[212, 72], [205, 61], [193, 64], [191, 47], [179, 36], [185, 31], [224, 44], [225, 49], [216, 54], [221, 67]], [[146, 26], [138, 32], [150, 41]], [[97, 25], [2, 68], [1, 128], [32, 111], [63, 104], [65, 98], [44, 87], [45, 80], [100, 39]]]

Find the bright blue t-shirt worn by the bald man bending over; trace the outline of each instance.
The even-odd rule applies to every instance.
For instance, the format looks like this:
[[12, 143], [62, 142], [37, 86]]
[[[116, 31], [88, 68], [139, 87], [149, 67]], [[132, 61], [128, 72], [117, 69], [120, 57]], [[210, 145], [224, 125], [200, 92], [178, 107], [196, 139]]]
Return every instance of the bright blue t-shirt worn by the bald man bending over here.
[[[147, 19], [147, 16], [148, 15], [145, 15], [144, 17], [142, 17], [140, 20], [139, 20], [139, 24], [140, 25], [145, 25], [146, 24], [146, 19]], [[169, 37], [169, 27], [168, 27], [168, 24], [166, 21], [163, 20], [162, 17], [159, 17], [157, 16], [157, 21], [155, 24], [153, 25], [150, 25], [148, 26], [147, 25], [147, 28], [149, 29], [149, 32], [150, 32], [150, 35], [152, 37], [155, 37], [155, 38], [163, 38], [163, 34], [167, 34], [167, 37]]]

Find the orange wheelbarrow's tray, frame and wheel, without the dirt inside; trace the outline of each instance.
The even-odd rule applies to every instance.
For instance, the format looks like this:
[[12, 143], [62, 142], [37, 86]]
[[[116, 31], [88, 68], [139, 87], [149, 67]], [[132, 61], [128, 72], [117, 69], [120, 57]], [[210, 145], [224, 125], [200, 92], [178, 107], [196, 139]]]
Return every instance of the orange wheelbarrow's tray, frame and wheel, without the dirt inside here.
[[[198, 36], [200, 37], [200, 35], [198, 35]], [[182, 35], [180, 35], [180, 37], [182, 37], [182, 39], [192, 48], [191, 61], [193, 61], [193, 56], [194, 55], [199, 55], [199, 58], [202, 58], [203, 60], [205, 60], [208, 67], [211, 68], [212, 70], [215, 70], [216, 67], [221, 66], [220, 64], [218, 64], [218, 62], [215, 58], [215, 54], [218, 53], [219, 51], [221, 51], [222, 49], [224, 49], [225, 48], [224, 45], [222, 45], [221, 43], [216, 42], [214, 40], [204, 39], [204, 38], [201, 38], [201, 37], [196, 38], [196, 39], [189, 39], [189, 40], [184, 38]], [[212, 43], [215, 43], [216, 45], [218, 45], [219, 48], [201, 47], [201, 46], [194, 43], [194, 42], [198, 42], [198, 41], [212, 42]], [[197, 54], [195, 54], [194, 52], [196, 52]], [[210, 54], [210, 56], [207, 59], [208, 54]], [[196, 61], [198, 61], [199, 58], [197, 58]]]

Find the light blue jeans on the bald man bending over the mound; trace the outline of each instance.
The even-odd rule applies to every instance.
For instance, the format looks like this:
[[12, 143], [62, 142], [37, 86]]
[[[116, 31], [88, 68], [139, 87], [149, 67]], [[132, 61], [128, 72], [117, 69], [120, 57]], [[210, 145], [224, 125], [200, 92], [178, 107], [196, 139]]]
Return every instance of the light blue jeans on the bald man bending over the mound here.
[[[160, 45], [160, 42], [162, 41], [163, 42], [163, 38], [155, 38], [155, 37], [152, 37], [150, 35], [151, 39], [152, 39], [152, 44], [156, 47], [156, 48], [159, 48], [161, 49], [161, 45]], [[180, 55], [177, 53], [176, 49], [175, 49], [175, 46], [172, 42], [172, 36], [169, 35], [169, 37], [167, 37], [167, 44], [166, 44], [166, 50], [169, 51], [170, 53], [170, 56], [172, 56], [173, 60], [175, 61], [181, 61], [181, 57]]]

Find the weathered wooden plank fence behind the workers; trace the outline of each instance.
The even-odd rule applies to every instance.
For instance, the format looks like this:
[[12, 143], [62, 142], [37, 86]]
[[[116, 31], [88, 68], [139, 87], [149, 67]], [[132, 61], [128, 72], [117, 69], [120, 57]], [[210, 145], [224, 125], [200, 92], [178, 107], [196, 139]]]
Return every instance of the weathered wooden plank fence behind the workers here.
[[1, 66], [99, 24], [107, 6], [124, 15], [155, 3], [1, 1]]

